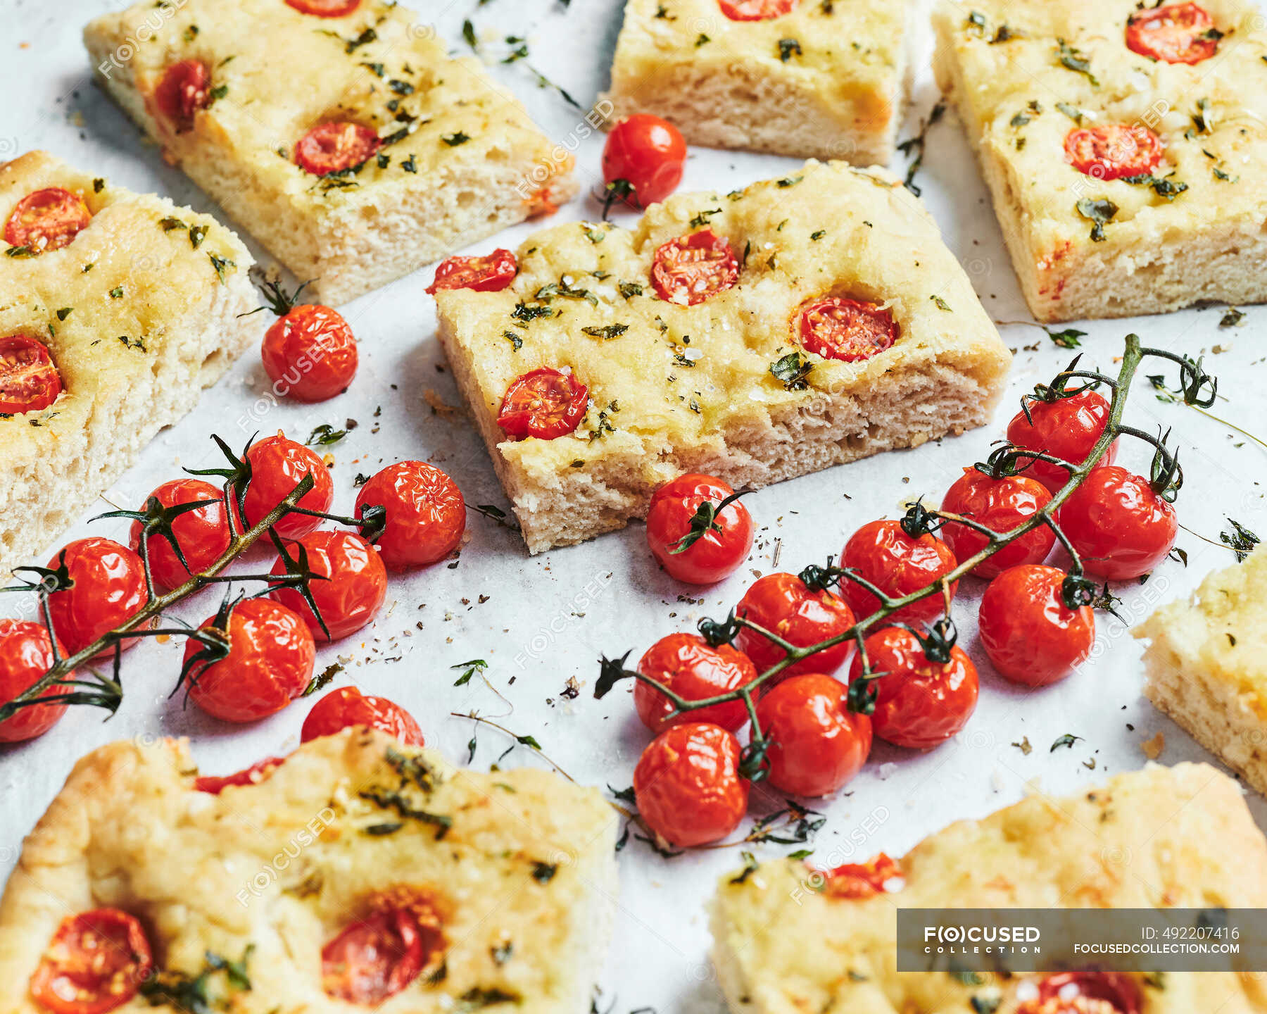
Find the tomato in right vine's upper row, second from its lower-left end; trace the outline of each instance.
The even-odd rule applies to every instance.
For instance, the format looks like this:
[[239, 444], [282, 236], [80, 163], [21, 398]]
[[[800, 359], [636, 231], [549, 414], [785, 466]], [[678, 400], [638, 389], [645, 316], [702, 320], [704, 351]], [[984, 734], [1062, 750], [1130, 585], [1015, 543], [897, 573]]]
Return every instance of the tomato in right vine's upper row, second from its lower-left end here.
[[[811, 588], [796, 574], [767, 574], [744, 592], [735, 615], [765, 627], [797, 648], [808, 648], [844, 634], [854, 625], [854, 613], [831, 592]], [[784, 651], [755, 630], [741, 627], [735, 646], [748, 655], [758, 672], [765, 672], [784, 658]], [[797, 673], [832, 673], [849, 653], [851, 641], [841, 641], [786, 668], [779, 679]], [[769, 683], [765, 684], [769, 690]]]

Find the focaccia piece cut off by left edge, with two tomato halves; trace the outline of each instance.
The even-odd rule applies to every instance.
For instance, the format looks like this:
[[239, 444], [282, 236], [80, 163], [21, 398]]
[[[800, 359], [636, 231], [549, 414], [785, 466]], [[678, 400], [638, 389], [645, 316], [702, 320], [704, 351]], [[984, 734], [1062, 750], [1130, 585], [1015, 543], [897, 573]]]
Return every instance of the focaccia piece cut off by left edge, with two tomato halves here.
[[196, 404], [251, 342], [239, 314], [257, 298], [251, 255], [214, 218], [44, 152], [0, 165], [0, 228], [8, 573]]

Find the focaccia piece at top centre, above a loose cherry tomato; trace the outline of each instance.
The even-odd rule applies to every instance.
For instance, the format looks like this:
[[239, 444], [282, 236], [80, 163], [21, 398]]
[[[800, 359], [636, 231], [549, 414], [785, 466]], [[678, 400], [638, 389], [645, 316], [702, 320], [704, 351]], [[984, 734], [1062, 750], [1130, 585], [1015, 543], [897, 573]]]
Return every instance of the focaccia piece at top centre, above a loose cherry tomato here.
[[910, 0], [628, 0], [611, 118], [687, 141], [886, 165], [906, 100]]

